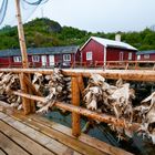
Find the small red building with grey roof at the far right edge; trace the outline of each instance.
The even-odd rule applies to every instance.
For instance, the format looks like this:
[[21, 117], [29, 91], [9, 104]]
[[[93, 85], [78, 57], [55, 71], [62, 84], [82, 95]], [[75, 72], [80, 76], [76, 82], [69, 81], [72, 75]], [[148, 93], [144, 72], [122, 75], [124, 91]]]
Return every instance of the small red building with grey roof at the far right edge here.
[[137, 61], [155, 61], [155, 50], [137, 52], [136, 60]]

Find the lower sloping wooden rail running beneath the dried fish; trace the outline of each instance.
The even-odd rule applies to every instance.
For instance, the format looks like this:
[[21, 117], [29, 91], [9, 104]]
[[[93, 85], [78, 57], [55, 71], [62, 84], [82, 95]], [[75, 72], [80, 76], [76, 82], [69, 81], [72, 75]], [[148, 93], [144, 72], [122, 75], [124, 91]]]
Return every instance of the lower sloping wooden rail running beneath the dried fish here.
[[[42, 103], [46, 102], [45, 97], [30, 95], [30, 94], [17, 92], [17, 91], [12, 91], [12, 93], [14, 95], [19, 95], [19, 96], [27, 97], [27, 99], [30, 99], [30, 100], [40, 101]], [[130, 131], [135, 131], [136, 132], [140, 128], [140, 124], [137, 124], [137, 123], [131, 124], [131, 123], [126, 122], [125, 120], [116, 118], [114, 116], [110, 116], [110, 115], [102, 114], [102, 113], [96, 113], [96, 112], [86, 110], [84, 107], [80, 107], [80, 106], [75, 106], [75, 105], [71, 105], [71, 104], [66, 104], [66, 103], [62, 103], [62, 102], [56, 102], [54, 105], [59, 108], [63, 108], [65, 111], [70, 111], [70, 112], [76, 113], [76, 114], [81, 114], [81, 115], [87, 116], [87, 117], [90, 117], [92, 120], [95, 120], [95, 121], [104, 122], [104, 123], [107, 123], [107, 124], [110, 123], [110, 124], [113, 124], [115, 126], [120, 126], [120, 127], [123, 127], [123, 128], [126, 128], [126, 130], [130, 130]]]

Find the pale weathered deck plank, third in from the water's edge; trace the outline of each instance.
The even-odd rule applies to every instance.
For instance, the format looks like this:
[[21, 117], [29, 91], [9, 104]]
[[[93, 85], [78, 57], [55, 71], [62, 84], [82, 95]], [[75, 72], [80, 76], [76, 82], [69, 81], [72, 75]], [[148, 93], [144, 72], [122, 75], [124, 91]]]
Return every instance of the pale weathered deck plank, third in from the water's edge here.
[[[20, 120], [20, 118], [18, 118], [18, 120]], [[44, 147], [49, 148], [50, 151], [52, 151], [55, 154], [62, 155], [68, 149], [72, 149], [72, 148], [68, 147], [66, 145], [62, 144], [61, 142], [58, 142], [58, 141], [51, 138], [50, 136], [43, 134], [42, 132], [40, 132], [40, 128], [38, 126], [34, 126], [33, 124], [28, 124], [29, 125], [28, 126], [28, 125], [25, 125], [25, 124], [23, 124], [23, 123], [21, 123], [19, 121], [16, 121], [14, 118], [12, 118], [10, 116], [8, 116], [8, 118], [7, 117], [2, 118], [2, 121], [4, 121], [10, 126], [13, 126], [16, 130], [20, 131], [24, 135], [27, 135], [30, 138], [34, 140], [35, 142], [38, 142], [39, 144], [41, 144]], [[33, 128], [30, 127], [30, 126], [32, 126]], [[74, 149], [72, 149], [72, 152], [73, 152], [74, 155], [80, 155], [80, 153], [78, 153]]]

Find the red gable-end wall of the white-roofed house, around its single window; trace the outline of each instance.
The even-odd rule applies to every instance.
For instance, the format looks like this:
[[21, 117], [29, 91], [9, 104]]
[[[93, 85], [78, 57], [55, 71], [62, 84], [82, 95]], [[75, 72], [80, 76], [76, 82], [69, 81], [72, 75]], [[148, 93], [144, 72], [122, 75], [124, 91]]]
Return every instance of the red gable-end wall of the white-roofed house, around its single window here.
[[[86, 60], [86, 52], [92, 51], [92, 61]], [[82, 62], [91, 63], [95, 61], [103, 62], [104, 59], [104, 46], [100, 43], [97, 43], [94, 40], [91, 40], [82, 50]]]

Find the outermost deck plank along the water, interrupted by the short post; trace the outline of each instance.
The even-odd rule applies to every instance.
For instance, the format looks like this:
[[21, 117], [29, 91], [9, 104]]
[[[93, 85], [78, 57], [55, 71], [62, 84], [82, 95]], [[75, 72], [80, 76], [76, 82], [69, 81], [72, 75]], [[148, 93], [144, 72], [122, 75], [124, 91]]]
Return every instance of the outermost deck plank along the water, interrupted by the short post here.
[[[32, 121], [35, 121], [40, 124], [43, 124], [44, 126], [49, 126], [53, 130], [56, 130], [63, 134], [66, 134], [71, 137], [74, 138], [74, 136], [72, 136], [72, 130], [64, 126], [64, 125], [61, 125], [61, 124], [58, 124], [55, 122], [52, 122], [52, 121], [49, 121], [48, 118], [45, 117], [42, 117], [42, 116], [39, 116], [37, 114], [34, 115], [29, 115], [29, 117], [32, 120]], [[102, 141], [99, 141], [97, 138], [94, 138], [94, 137], [91, 137], [86, 134], [83, 134], [81, 133], [81, 135], [78, 137], [79, 141], [92, 146], [92, 147], [95, 147], [102, 152], [105, 152], [107, 154], [118, 154], [118, 155], [131, 155], [131, 153], [124, 151], [124, 149], [121, 149], [121, 148], [117, 148], [117, 147], [114, 147], [107, 143], [104, 143]]]

